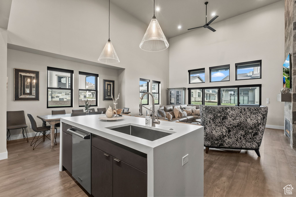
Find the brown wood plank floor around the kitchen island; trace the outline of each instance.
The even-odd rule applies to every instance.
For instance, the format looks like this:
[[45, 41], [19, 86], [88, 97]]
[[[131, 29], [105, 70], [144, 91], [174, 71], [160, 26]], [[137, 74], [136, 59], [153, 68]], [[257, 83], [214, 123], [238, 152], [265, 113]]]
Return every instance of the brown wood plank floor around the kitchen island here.
[[[67, 171], [59, 172], [58, 145], [42, 142], [35, 150], [23, 139], [7, 142], [0, 160], [0, 196], [88, 196]], [[258, 157], [249, 150], [204, 150], [204, 196], [296, 196], [296, 153], [283, 130], [266, 129]]]

